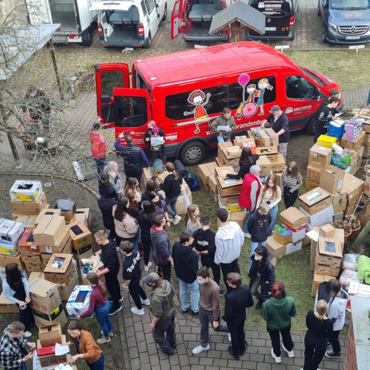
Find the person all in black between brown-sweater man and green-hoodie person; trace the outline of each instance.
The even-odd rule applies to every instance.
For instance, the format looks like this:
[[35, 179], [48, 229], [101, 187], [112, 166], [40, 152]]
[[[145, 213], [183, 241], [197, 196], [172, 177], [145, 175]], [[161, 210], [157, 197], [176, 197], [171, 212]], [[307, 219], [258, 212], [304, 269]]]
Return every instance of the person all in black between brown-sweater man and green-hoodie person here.
[[245, 309], [253, 307], [253, 296], [248, 285], [242, 284], [242, 277], [237, 272], [227, 274], [226, 284], [232, 289], [225, 298], [225, 313], [222, 319], [226, 321], [231, 334], [231, 345], [228, 350], [235, 360], [244, 356], [248, 346], [245, 340], [244, 323], [247, 318]]

